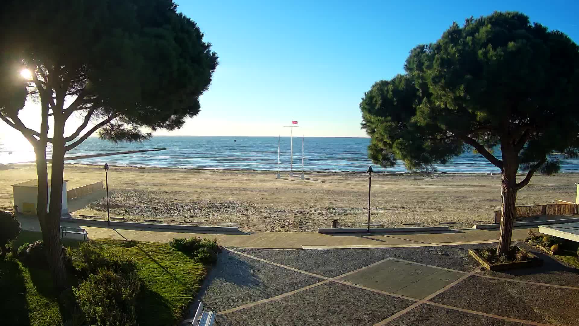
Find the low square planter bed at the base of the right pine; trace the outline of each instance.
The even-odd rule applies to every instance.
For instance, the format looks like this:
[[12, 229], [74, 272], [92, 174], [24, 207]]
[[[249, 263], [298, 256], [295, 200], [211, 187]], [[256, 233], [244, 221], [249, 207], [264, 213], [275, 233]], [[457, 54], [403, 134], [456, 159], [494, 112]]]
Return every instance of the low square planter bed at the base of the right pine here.
[[543, 264], [543, 260], [523, 248], [511, 247], [510, 252], [500, 256], [496, 252], [496, 248], [468, 249], [468, 253], [488, 270], [499, 271]]

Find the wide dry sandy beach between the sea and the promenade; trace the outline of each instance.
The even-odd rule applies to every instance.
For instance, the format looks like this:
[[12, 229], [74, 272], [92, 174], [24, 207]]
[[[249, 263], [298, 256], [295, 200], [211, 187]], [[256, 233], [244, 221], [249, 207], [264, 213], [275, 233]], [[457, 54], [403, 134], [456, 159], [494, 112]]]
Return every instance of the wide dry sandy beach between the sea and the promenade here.
[[[0, 171], [0, 208], [13, 205], [11, 184], [35, 179], [32, 164]], [[111, 166], [111, 216], [129, 222], [239, 226], [245, 231], [316, 231], [367, 223], [367, 173], [306, 173], [276, 179], [274, 172]], [[579, 173], [533, 176], [519, 205], [574, 201]], [[520, 178], [523, 178], [520, 176]], [[104, 181], [101, 166], [65, 165], [68, 189]], [[375, 226], [471, 227], [492, 223], [500, 206], [500, 175], [373, 173]], [[69, 201], [72, 216], [107, 217], [104, 191]], [[84, 216], [81, 216], [84, 215]]]

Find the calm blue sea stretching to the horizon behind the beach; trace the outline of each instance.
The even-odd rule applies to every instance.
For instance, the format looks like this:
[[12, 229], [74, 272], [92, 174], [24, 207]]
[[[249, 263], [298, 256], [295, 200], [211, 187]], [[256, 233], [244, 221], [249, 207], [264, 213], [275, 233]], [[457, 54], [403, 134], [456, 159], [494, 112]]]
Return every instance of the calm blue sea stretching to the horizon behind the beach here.
[[[399, 162], [392, 168], [381, 168], [368, 159], [368, 138], [306, 137], [304, 139], [305, 171], [375, 171], [405, 172]], [[290, 171], [290, 137], [281, 137], [280, 169]], [[86, 155], [166, 147], [167, 150], [67, 161], [69, 164], [105, 164], [117, 166], [156, 166], [191, 169], [248, 169], [277, 171], [277, 137], [204, 137], [155, 136], [142, 143], [105, 142], [90, 137], [68, 155]], [[500, 150], [494, 152], [500, 157]], [[50, 157], [50, 150], [49, 155]], [[14, 144], [0, 139], [0, 164], [34, 160], [25, 143]], [[579, 159], [562, 160], [562, 172], [578, 172]], [[465, 153], [446, 165], [435, 166], [439, 172], [499, 172], [479, 154]], [[302, 139], [294, 137], [294, 171], [302, 169]]]

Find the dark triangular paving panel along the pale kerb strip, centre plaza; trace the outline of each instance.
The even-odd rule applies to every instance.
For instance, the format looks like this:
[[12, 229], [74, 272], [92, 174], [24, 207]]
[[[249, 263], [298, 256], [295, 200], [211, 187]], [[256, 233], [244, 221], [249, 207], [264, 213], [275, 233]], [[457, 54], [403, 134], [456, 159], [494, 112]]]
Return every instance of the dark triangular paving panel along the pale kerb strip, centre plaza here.
[[383, 248], [372, 249], [253, 249], [232, 248], [270, 262], [325, 277], [336, 277], [392, 256]]

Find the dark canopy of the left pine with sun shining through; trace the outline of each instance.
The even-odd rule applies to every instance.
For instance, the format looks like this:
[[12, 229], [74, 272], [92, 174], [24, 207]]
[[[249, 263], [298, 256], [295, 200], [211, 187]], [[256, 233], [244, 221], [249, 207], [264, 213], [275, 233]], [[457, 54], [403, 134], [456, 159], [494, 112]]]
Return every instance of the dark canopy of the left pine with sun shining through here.
[[[199, 113], [217, 55], [171, 0], [8, 0], [0, 8], [0, 108], [9, 125], [21, 129], [27, 93], [50, 115], [85, 117], [68, 142], [94, 124], [105, 139], [140, 140], [149, 136], [142, 127], [171, 130]], [[35, 72], [30, 83], [23, 68]], [[25, 131], [29, 140], [36, 129]]]

